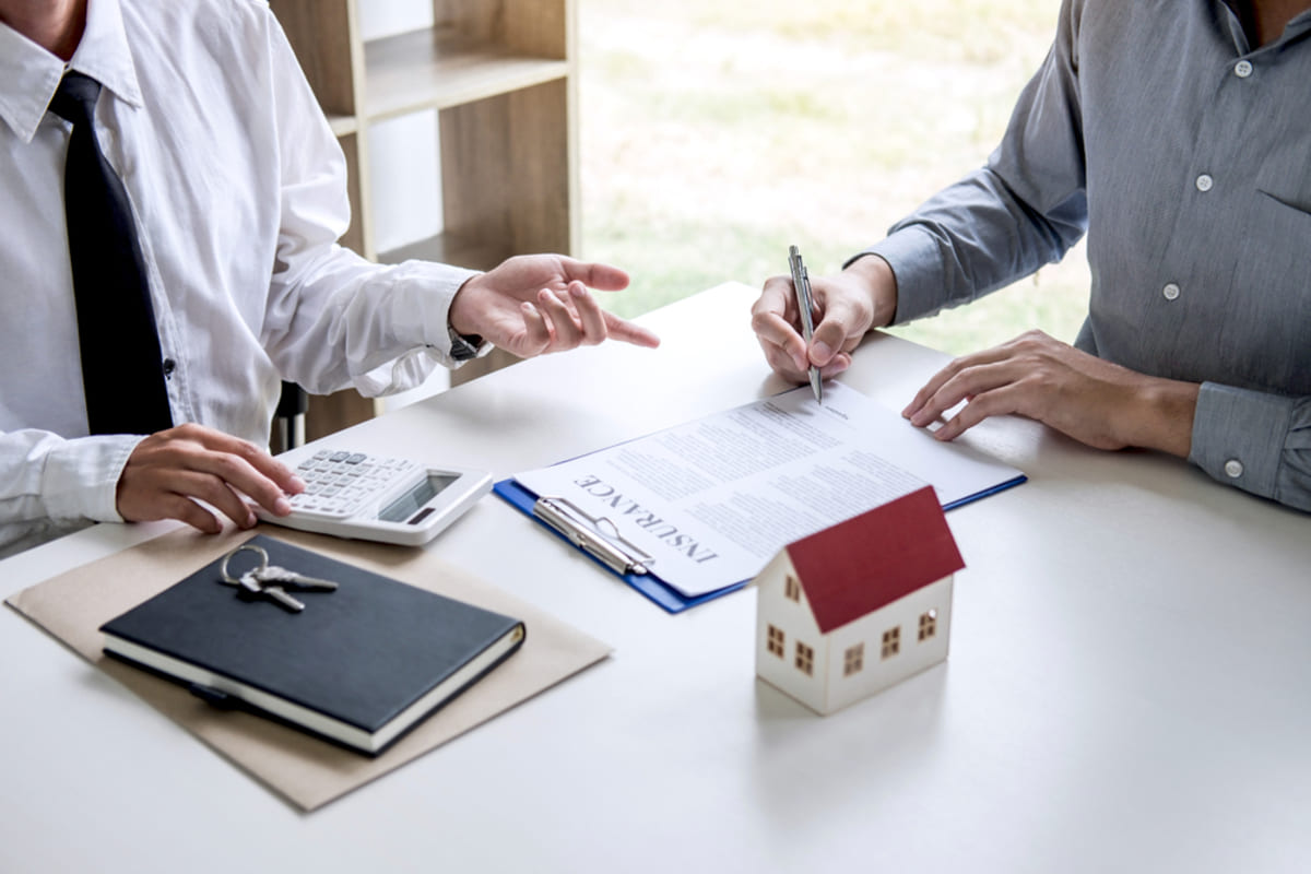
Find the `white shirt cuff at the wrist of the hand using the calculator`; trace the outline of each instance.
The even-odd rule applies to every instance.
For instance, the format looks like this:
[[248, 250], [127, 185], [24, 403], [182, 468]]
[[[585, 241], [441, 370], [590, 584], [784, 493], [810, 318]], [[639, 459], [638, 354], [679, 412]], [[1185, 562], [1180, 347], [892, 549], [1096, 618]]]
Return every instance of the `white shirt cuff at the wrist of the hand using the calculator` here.
[[123, 522], [118, 515], [118, 480], [139, 435], [63, 440], [46, 455], [41, 493], [52, 519]]

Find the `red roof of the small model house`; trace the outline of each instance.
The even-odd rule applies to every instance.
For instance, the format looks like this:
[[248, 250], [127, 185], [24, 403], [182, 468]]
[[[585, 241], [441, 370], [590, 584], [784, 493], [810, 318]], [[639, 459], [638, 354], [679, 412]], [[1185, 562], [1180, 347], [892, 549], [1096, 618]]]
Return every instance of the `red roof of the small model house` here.
[[931, 486], [787, 550], [823, 634], [965, 567]]

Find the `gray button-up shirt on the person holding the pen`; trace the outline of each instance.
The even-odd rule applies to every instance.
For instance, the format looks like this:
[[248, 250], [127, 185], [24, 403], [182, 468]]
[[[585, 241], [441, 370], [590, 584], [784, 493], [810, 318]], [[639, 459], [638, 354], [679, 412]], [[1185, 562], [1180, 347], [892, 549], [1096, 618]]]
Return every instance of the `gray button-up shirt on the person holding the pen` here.
[[1065, 0], [1000, 147], [868, 252], [897, 321], [1088, 233], [1075, 345], [1201, 383], [1189, 460], [1311, 510], [1311, 13], [1252, 50], [1222, 0]]

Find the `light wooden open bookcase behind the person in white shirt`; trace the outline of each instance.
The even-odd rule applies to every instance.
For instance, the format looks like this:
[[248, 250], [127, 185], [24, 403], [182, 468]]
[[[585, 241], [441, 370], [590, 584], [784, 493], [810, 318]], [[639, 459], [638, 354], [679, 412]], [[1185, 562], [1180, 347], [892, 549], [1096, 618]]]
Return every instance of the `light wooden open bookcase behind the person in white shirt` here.
[[[346, 157], [351, 224], [342, 245], [396, 263], [489, 270], [510, 256], [572, 254], [579, 227], [577, 0], [431, 0], [431, 28], [364, 41], [366, 0], [270, 0]], [[370, 126], [440, 113], [446, 233], [378, 254]], [[497, 350], [455, 383], [517, 360]], [[353, 390], [312, 397], [309, 439], [375, 415]]]

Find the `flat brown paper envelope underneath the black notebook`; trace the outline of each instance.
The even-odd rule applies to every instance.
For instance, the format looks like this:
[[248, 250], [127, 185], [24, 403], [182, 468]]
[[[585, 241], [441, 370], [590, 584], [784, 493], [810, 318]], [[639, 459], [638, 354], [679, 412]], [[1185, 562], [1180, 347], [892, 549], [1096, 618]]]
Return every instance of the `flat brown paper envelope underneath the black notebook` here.
[[467, 692], [416, 726], [376, 759], [338, 748], [295, 729], [244, 713], [219, 710], [184, 687], [108, 658], [101, 624], [153, 598], [250, 537], [176, 531], [84, 565], [8, 599], [147, 704], [302, 810], [340, 798], [520, 701], [606, 658], [611, 647], [540, 609], [506, 595], [422, 549], [343, 541], [288, 529], [260, 531], [448, 598], [522, 618], [523, 647]]

